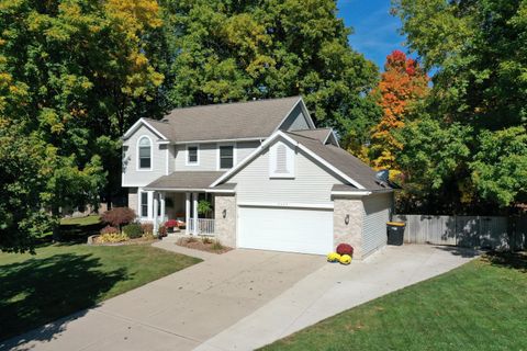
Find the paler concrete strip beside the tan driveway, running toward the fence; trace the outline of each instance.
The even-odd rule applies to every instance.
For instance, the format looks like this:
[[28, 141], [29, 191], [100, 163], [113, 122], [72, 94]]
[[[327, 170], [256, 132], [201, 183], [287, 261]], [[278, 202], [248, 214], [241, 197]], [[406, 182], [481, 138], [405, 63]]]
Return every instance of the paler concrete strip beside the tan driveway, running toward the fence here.
[[351, 265], [325, 264], [195, 350], [254, 350], [407, 285], [457, 268], [471, 250], [407, 245], [385, 247]]

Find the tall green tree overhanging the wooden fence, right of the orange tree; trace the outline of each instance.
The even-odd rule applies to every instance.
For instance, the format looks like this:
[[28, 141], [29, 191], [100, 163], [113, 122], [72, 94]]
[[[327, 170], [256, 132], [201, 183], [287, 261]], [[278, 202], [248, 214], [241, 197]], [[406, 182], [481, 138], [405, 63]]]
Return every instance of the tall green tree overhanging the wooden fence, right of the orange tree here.
[[[426, 113], [442, 133], [470, 131], [457, 136], [470, 155], [452, 156], [456, 171], [445, 174], [439, 166], [431, 169], [444, 180], [456, 177], [456, 182], [444, 182], [448, 188], [427, 193], [428, 199], [450, 191], [458, 194], [452, 201], [460, 208], [526, 202], [527, 1], [396, 0], [393, 4], [410, 48], [426, 68], [436, 70]], [[440, 154], [439, 145], [429, 147], [429, 159]], [[411, 152], [406, 148], [400, 157], [410, 159]], [[427, 179], [419, 179], [424, 173], [408, 167], [414, 181], [425, 184]]]

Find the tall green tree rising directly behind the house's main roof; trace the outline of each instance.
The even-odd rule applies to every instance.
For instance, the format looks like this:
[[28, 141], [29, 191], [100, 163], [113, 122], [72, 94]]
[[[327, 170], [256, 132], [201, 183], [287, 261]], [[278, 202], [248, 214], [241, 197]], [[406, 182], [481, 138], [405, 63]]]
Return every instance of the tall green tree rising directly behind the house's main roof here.
[[378, 122], [378, 68], [348, 44], [333, 0], [161, 2], [176, 37], [177, 106], [302, 94], [318, 125], [355, 137]]

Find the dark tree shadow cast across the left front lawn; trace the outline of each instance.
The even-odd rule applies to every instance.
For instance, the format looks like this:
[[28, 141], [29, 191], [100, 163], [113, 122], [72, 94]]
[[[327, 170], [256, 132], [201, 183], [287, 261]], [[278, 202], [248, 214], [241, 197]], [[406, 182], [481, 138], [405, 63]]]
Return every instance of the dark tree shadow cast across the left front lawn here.
[[[2, 265], [0, 270], [0, 340], [96, 305], [115, 283], [126, 280], [125, 269], [98, 270], [102, 264], [92, 254], [63, 253], [31, 258]], [[64, 326], [80, 316], [68, 316], [35, 329], [31, 340], [52, 340]], [[30, 339], [0, 342], [0, 349], [14, 348]]]

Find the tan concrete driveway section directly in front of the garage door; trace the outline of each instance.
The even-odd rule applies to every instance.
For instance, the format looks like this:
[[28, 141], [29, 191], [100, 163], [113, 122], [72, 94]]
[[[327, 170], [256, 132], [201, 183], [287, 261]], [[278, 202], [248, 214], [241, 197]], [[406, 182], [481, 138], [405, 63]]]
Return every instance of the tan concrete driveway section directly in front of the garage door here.
[[191, 350], [325, 264], [324, 257], [310, 254], [209, 254], [96, 308], [0, 342], [0, 349]]

